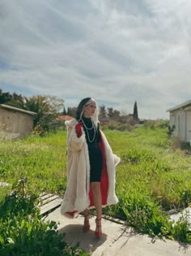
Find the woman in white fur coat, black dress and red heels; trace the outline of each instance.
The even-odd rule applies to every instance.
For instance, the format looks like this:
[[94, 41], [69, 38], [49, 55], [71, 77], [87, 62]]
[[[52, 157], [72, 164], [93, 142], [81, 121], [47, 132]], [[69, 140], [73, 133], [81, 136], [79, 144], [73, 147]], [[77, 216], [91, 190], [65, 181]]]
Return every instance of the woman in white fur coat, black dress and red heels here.
[[96, 231], [102, 235], [102, 206], [118, 202], [115, 193], [115, 167], [120, 162], [98, 124], [98, 107], [92, 98], [84, 98], [77, 117], [66, 121], [67, 188], [61, 206], [62, 215], [74, 218], [84, 213], [83, 231], [90, 229], [88, 209], [96, 208]]

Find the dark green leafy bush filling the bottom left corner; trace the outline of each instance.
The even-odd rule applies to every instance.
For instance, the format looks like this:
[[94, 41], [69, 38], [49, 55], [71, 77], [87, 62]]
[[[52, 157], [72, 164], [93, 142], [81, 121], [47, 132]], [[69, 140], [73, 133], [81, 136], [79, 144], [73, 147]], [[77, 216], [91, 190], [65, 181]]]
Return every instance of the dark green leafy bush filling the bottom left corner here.
[[26, 179], [1, 202], [0, 255], [69, 256], [87, 255], [79, 245], [70, 247], [65, 234], [58, 234], [57, 223], [45, 222], [37, 208], [37, 196], [28, 193]]

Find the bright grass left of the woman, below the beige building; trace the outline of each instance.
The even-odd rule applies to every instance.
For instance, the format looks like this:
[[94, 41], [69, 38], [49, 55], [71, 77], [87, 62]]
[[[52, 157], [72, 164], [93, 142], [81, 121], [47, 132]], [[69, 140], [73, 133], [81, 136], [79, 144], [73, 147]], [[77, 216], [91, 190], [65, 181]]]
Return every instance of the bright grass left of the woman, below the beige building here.
[[0, 159], [1, 181], [13, 184], [27, 176], [34, 190], [66, 189], [66, 132], [1, 143]]

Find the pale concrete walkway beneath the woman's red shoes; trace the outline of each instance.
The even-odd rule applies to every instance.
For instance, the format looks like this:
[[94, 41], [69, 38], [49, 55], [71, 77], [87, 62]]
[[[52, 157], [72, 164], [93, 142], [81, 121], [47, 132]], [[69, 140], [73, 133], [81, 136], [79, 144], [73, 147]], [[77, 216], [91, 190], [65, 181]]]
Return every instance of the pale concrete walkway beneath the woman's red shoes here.
[[50, 213], [46, 220], [59, 222], [59, 232], [66, 233], [66, 241], [70, 245], [80, 243], [80, 247], [92, 256], [191, 256], [191, 245], [171, 240], [155, 240], [147, 235], [134, 232], [124, 223], [116, 223], [108, 219], [102, 221], [103, 235], [97, 239], [95, 216], [91, 216], [91, 230], [83, 232], [83, 216], [67, 219], [60, 214], [60, 208]]

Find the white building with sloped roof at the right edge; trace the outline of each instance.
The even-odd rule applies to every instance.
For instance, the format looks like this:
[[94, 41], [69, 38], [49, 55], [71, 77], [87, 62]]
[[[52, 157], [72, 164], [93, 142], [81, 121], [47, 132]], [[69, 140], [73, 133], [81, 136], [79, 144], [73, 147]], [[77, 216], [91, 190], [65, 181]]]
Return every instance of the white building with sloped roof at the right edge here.
[[180, 141], [191, 143], [191, 100], [168, 109], [170, 114], [169, 125], [175, 125], [173, 135]]

